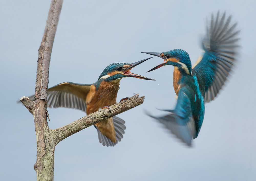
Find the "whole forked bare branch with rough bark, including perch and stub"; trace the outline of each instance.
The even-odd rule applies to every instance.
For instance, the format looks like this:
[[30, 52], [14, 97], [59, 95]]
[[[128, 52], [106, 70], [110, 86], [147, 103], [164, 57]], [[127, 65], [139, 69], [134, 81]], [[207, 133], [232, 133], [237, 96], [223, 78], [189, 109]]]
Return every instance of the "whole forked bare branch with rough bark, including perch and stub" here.
[[38, 50], [35, 99], [32, 101], [24, 96], [20, 99], [24, 106], [34, 116], [37, 143], [37, 159], [34, 169], [36, 170], [38, 181], [53, 180], [54, 150], [55, 146], [61, 140], [95, 123], [142, 104], [144, 98], [144, 96], [139, 98], [138, 95], [135, 95], [131, 97], [131, 101], [125, 100], [121, 103], [112, 105], [110, 107], [111, 114], [109, 114], [107, 109], [103, 109], [61, 128], [55, 130], [49, 129], [47, 122], [47, 117], [49, 118], [49, 115], [46, 102], [49, 65], [62, 3], [63, 0], [51, 1], [44, 36]]

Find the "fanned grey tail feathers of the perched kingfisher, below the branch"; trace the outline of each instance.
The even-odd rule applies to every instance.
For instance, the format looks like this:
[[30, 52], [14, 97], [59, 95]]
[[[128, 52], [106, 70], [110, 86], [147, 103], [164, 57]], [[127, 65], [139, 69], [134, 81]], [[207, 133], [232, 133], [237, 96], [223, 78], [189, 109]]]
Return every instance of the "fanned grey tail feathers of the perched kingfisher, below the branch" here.
[[126, 129], [126, 127], [124, 126], [124, 123], [125, 123], [124, 120], [122, 120], [121, 118], [118, 118], [116, 116], [114, 116], [112, 118], [113, 118], [113, 124], [115, 127], [115, 138], [116, 138], [115, 143], [113, 143], [109, 138], [107, 138], [105, 135], [103, 135], [100, 132], [100, 130], [96, 126], [94, 126], [98, 131], [99, 142], [103, 146], [115, 146], [117, 144], [117, 142], [121, 141], [121, 139], [123, 138], [124, 130]]

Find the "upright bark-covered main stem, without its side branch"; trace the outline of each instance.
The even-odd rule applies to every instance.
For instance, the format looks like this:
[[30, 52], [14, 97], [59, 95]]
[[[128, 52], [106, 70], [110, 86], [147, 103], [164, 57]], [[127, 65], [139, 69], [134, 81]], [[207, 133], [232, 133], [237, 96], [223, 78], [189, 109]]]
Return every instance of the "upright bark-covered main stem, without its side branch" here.
[[[53, 180], [54, 175], [54, 138], [47, 123], [47, 88], [51, 51], [60, 17], [63, 0], [52, 0], [44, 35], [38, 50], [37, 75], [34, 106], [34, 122], [36, 128], [37, 159], [34, 169], [37, 180]], [[30, 111], [31, 112], [31, 111]], [[49, 117], [49, 116], [48, 116]]]

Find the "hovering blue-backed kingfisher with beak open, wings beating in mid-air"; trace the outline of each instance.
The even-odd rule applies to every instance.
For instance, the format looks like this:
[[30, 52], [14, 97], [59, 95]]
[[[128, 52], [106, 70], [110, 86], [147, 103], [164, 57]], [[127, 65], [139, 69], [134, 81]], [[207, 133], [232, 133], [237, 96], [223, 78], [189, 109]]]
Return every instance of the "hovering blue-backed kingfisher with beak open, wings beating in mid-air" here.
[[211, 16], [202, 41], [204, 55], [193, 67], [188, 53], [181, 49], [162, 53], [142, 52], [164, 59], [164, 63], [150, 71], [165, 65], [174, 66], [173, 87], [178, 96], [176, 107], [174, 110], [165, 110], [169, 112], [167, 115], [154, 118], [189, 146], [191, 138], [197, 138], [202, 126], [205, 103], [218, 94], [237, 54], [237, 24], [231, 25], [231, 16], [227, 20], [225, 17], [226, 13], [220, 17], [219, 12], [216, 18]]

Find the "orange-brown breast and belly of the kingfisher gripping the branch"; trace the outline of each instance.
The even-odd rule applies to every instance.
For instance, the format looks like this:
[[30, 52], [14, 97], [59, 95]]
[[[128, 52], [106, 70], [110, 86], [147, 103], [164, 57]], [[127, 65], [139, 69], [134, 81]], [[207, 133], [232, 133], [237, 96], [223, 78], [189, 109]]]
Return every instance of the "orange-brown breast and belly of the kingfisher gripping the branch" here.
[[[116, 96], [119, 89], [119, 82], [121, 79], [113, 82], [102, 81], [98, 90], [91, 88], [86, 99], [86, 113], [91, 114], [102, 108], [103, 106], [111, 106], [116, 102]], [[116, 142], [115, 129], [113, 125], [113, 119], [105, 119], [95, 126], [98, 127], [103, 135], [106, 135], [113, 143]]]

